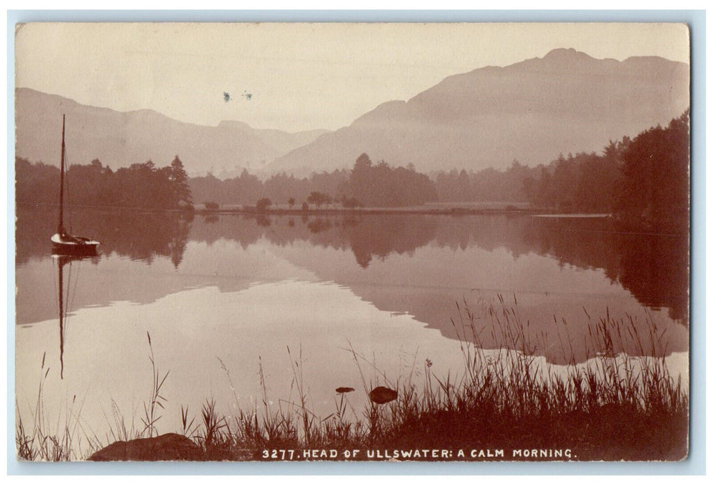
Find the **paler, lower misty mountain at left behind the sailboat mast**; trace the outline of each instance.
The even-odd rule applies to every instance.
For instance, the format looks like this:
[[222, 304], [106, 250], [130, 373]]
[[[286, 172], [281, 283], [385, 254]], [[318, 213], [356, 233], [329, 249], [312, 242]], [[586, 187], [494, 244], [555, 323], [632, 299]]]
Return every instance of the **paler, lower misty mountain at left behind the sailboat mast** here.
[[150, 110], [119, 112], [84, 106], [68, 98], [29, 88], [15, 91], [16, 155], [59, 165], [62, 114], [71, 163], [98, 158], [119, 168], [153, 160], [168, 165], [179, 155], [190, 174], [240, 175], [313, 141], [325, 131], [287, 133], [250, 128], [240, 121], [202, 126]]

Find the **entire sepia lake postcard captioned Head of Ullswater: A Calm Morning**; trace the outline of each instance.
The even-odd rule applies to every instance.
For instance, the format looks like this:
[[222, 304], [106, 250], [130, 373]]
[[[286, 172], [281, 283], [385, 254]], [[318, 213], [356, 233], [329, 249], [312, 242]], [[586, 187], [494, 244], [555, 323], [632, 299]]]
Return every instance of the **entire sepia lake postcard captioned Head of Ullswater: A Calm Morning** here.
[[687, 24], [14, 28], [17, 461], [689, 456]]

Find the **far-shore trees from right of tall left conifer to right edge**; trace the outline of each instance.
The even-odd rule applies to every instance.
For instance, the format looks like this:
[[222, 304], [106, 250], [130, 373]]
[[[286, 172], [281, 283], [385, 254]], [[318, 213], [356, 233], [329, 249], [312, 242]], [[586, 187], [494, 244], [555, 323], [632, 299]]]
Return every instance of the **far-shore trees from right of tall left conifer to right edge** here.
[[647, 225], [687, 220], [689, 112], [666, 128], [650, 128], [633, 140], [609, 141], [600, 153], [562, 155], [528, 167], [513, 160], [506, 170], [417, 173], [413, 165], [372, 163], [365, 153], [352, 170], [295, 178], [278, 173], [262, 182], [247, 170], [239, 178], [212, 175], [190, 180], [197, 200], [220, 204], [270, 203], [290, 207], [341, 203], [344, 207], [402, 207], [429, 202], [523, 203], [558, 213], [612, 213]]

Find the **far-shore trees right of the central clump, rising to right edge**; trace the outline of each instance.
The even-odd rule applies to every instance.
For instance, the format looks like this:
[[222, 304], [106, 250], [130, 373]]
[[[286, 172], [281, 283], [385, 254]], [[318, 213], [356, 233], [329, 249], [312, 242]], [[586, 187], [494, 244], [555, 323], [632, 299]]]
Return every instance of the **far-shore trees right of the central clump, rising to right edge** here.
[[536, 167], [432, 174], [441, 202], [521, 202], [558, 213], [611, 213], [655, 228], [687, 227], [689, 110], [601, 153], [560, 155]]

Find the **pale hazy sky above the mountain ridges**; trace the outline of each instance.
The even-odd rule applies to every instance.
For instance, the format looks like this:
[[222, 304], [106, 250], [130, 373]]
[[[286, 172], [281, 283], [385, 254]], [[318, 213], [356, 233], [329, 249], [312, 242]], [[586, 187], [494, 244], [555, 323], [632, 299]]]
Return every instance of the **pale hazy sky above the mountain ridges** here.
[[689, 62], [681, 24], [26, 24], [16, 87], [206, 125], [337, 129], [451, 74], [558, 47]]

